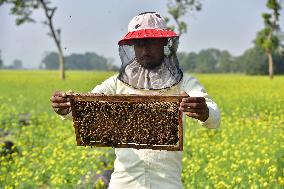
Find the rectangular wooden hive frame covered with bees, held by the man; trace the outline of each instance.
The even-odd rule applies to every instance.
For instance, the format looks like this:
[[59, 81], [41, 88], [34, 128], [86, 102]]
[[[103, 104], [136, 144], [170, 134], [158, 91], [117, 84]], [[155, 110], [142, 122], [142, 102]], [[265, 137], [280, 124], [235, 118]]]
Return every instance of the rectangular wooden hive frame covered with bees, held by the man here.
[[70, 97], [78, 145], [182, 150], [179, 96]]

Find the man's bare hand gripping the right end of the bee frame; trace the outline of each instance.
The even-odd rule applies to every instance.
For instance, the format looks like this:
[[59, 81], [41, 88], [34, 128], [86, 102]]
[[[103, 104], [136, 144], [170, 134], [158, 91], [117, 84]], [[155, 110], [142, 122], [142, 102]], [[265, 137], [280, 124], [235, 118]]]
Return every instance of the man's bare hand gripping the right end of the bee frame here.
[[184, 91], [181, 91], [180, 94], [184, 96], [179, 107], [181, 111], [185, 112], [187, 116], [203, 122], [208, 119], [209, 109], [204, 97], [190, 97]]

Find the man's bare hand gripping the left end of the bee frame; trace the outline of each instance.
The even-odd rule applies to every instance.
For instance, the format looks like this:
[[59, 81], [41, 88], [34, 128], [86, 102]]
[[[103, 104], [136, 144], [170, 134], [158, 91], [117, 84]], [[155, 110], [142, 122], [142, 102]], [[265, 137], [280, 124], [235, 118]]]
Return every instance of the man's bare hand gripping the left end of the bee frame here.
[[59, 115], [67, 115], [71, 110], [70, 99], [65, 92], [56, 91], [50, 98], [51, 106]]

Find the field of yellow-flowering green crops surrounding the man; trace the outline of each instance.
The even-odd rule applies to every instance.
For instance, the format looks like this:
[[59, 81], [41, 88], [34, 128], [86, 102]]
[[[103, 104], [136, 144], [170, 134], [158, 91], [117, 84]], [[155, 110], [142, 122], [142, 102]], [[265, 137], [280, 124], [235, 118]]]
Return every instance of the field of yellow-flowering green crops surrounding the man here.
[[[0, 71], [0, 188], [92, 188], [112, 148], [77, 147], [51, 111], [55, 90], [88, 92], [111, 72]], [[195, 75], [219, 105], [217, 130], [187, 120], [185, 188], [284, 188], [284, 77]], [[11, 155], [4, 141], [16, 148]]]

